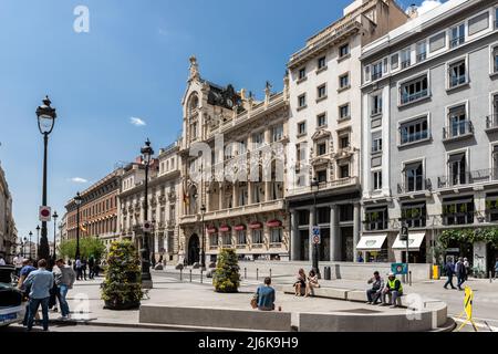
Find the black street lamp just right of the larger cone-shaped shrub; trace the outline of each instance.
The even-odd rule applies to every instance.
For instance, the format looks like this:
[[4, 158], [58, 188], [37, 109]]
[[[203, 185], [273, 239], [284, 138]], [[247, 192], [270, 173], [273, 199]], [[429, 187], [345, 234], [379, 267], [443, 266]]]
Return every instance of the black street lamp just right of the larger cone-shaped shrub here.
[[145, 142], [145, 146], [141, 149], [141, 154], [143, 156], [145, 163], [145, 199], [144, 199], [144, 248], [142, 250], [142, 288], [151, 289], [153, 287], [152, 277], [151, 277], [151, 251], [148, 248], [148, 228], [146, 228], [146, 223], [148, 223], [148, 167], [151, 165], [152, 156], [154, 155], [154, 150], [151, 147], [151, 142], [147, 138]]

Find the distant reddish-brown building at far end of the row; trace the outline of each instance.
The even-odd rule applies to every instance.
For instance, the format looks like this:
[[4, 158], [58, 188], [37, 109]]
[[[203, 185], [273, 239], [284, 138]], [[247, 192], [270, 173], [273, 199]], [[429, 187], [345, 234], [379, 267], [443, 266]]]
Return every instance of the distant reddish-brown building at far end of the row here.
[[[117, 168], [80, 194], [80, 237], [98, 237], [104, 244], [118, 239], [117, 195], [123, 169]], [[77, 207], [72, 198], [65, 206], [65, 230], [69, 239], [76, 238]]]

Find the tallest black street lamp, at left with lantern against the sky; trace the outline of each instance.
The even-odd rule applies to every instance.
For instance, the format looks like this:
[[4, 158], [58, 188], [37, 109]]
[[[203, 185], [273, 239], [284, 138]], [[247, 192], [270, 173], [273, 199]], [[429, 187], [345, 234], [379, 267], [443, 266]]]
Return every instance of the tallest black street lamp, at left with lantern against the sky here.
[[[42, 206], [46, 206], [46, 147], [49, 144], [49, 135], [52, 133], [55, 124], [55, 108], [51, 107], [49, 96], [45, 96], [43, 104], [37, 108], [38, 128], [43, 135], [43, 192], [42, 192]], [[41, 243], [40, 256], [43, 259], [49, 259], [49, 239], [46, 238], [46, 221], [42, 221], [41, 227]]]

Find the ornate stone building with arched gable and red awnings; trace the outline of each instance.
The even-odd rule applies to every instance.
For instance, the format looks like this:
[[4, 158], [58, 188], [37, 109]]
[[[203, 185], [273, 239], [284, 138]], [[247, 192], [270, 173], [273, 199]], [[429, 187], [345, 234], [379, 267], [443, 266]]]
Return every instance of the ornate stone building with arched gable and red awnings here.
[[258, 102], [245, 90], [200, 77], [190, 59], [183, 100], [179, 252], [188, 264], [215, 261], [221, 248], [245, 259], [289, 259], [284, 209], [288, 77]]

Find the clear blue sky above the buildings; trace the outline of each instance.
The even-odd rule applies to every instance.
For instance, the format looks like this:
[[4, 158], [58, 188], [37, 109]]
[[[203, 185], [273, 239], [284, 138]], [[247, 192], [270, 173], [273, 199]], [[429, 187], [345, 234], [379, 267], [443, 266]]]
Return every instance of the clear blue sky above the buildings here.
[[[146, 137], [156, 152], [175, 140], [191, 54], [203, 77], [261, 97], [267, 80], [281, 90], [288, 58], [350, 2], [1, 0], [0, 162], [19, 236], [38, 225], [42, 136], [34, 111], [45, 94], [59, 116], [49, 205], [62, 216], [66, 200], [134, 159]], [[400, 1], [412, 2], [422, 1]], [[73, 30], [77, 6], [90, 10], [89, 33]]]

